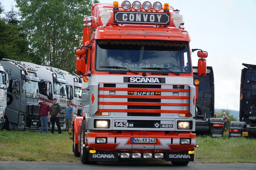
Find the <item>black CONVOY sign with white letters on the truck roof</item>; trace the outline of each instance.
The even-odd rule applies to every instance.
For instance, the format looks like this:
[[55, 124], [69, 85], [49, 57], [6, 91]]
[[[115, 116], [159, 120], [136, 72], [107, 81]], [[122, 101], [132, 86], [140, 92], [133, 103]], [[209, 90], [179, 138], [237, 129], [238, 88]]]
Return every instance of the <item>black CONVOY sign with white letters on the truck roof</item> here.
[[114, 23], [170, 25], [170, 13], [114, 11]]

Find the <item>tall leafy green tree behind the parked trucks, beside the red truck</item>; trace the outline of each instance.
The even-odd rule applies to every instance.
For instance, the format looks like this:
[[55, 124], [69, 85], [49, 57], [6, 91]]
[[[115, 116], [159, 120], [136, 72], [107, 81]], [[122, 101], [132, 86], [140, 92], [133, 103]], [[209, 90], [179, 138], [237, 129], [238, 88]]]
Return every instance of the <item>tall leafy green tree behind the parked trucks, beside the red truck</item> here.
[[[94, 0], [94, 2], [98, 2]], [[16, 0], [21, 24], [35, 56], [32, 63], [74, 71], [74, 50], [81, 46], [82, 21], [91, 0]]]

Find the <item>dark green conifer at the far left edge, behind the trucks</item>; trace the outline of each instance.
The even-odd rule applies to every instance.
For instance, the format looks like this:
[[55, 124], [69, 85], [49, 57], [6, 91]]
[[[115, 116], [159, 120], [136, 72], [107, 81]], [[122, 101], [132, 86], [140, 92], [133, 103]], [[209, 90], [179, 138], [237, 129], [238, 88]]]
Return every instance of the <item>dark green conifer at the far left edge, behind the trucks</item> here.
[[[0, 12], [4, 13], [2, 5]], [[28, 41], [18, 25], [18, 14], [13, 6], [5, 15], [5, 18], [0, 18], [0, 59], [29, 60]]]

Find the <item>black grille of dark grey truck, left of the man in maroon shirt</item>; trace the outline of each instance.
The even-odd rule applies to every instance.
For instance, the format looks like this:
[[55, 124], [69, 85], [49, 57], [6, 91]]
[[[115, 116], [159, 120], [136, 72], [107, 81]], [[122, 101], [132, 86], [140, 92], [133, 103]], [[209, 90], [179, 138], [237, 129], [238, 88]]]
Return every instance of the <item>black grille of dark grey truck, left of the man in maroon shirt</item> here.
[[25, 127], [28, 131], [37, 131], [39, 128], [40, 123], [40, 105], [28, 105], [27, 107], [27, 114], [26, 114], [26, 124], [27, 127]]

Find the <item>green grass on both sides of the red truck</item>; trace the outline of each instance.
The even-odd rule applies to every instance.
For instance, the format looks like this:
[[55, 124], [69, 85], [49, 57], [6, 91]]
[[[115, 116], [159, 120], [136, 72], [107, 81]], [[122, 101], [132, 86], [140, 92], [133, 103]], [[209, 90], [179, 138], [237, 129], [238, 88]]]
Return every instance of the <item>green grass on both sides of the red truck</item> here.
[[[256, 139], [196, 137], [194, 163], [256, 163]], [[72, 152], [67, 131], [62, 135], [40, 131], [0, 131], [0, 161], [80, 162]]]

